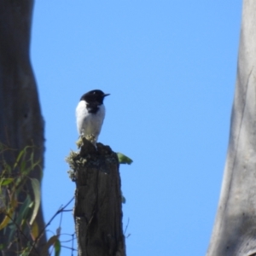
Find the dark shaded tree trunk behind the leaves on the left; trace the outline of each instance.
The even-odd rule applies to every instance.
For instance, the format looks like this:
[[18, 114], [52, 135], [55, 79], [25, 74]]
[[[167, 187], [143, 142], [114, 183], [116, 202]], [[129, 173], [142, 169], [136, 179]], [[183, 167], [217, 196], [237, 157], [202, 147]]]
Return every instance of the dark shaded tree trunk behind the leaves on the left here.
[[[21, 149], [28, 145], [34, 146], [34, 160], [39, 160], [40, 166], [30, 173], [30, 177], [40, 180], [44, 155], [44, 120], [29, 57], [32, 7], [33, 0], [0, 0], [0, 143], [15, 149], [4, 152], [4, 160], [10, 166], [14, 165]], [[26, 193], [32, 195], [31, 185], [27, 183], [23, 191], [19, 195], [19, 202], [24, 201]], [[16, 210], [19, 211], [19, 207]], [[3, 219], [3, 214], [0, 217]], [[36, 222], [39, 229], [44, 227], [42, 208], [39, 209]], [[6, 246], [9, 232], [7, 229], [3, 234], [3, 230], [0, 230], [0, 244]], [[28, 229], [24, 232], [30, 237]], [[18, 242], [6, 249], [4, 255], [20, 254], [17, 250], [20, 250], [20, 245], [26, 247], [27, 241], [21, 239]], [[45, 236], [40, 240], [41, 244], [44, 242]]]

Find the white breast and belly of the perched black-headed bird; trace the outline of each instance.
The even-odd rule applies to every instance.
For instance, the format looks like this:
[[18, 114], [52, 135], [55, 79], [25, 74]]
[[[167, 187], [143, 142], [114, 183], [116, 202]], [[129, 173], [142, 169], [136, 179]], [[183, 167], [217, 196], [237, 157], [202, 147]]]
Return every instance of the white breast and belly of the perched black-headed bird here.
[[99, 106], [97, 113], [88, 113], [86, 103], [80, 101], [76, 108], [76, 117], [79, 135], [84, 135], [85, 137], [94, 135], [97, 140], [102, 130], [102, 123], [105, 117], [104, 105]]

